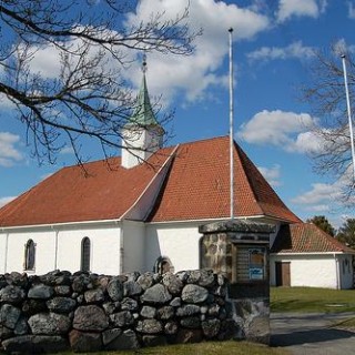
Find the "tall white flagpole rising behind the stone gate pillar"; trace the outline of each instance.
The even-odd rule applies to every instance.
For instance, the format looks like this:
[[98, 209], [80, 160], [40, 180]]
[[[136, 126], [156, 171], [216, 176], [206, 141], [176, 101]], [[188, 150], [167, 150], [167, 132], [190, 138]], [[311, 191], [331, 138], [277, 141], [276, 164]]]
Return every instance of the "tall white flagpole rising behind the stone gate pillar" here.
[[234, 220], [234, 162], [233, 162], [233, 151], [234, 151], [234, 133], [233, 133], [233, 28], [229, 29], [230, 32], [230, 191], [231, 191], [231, 220]]

